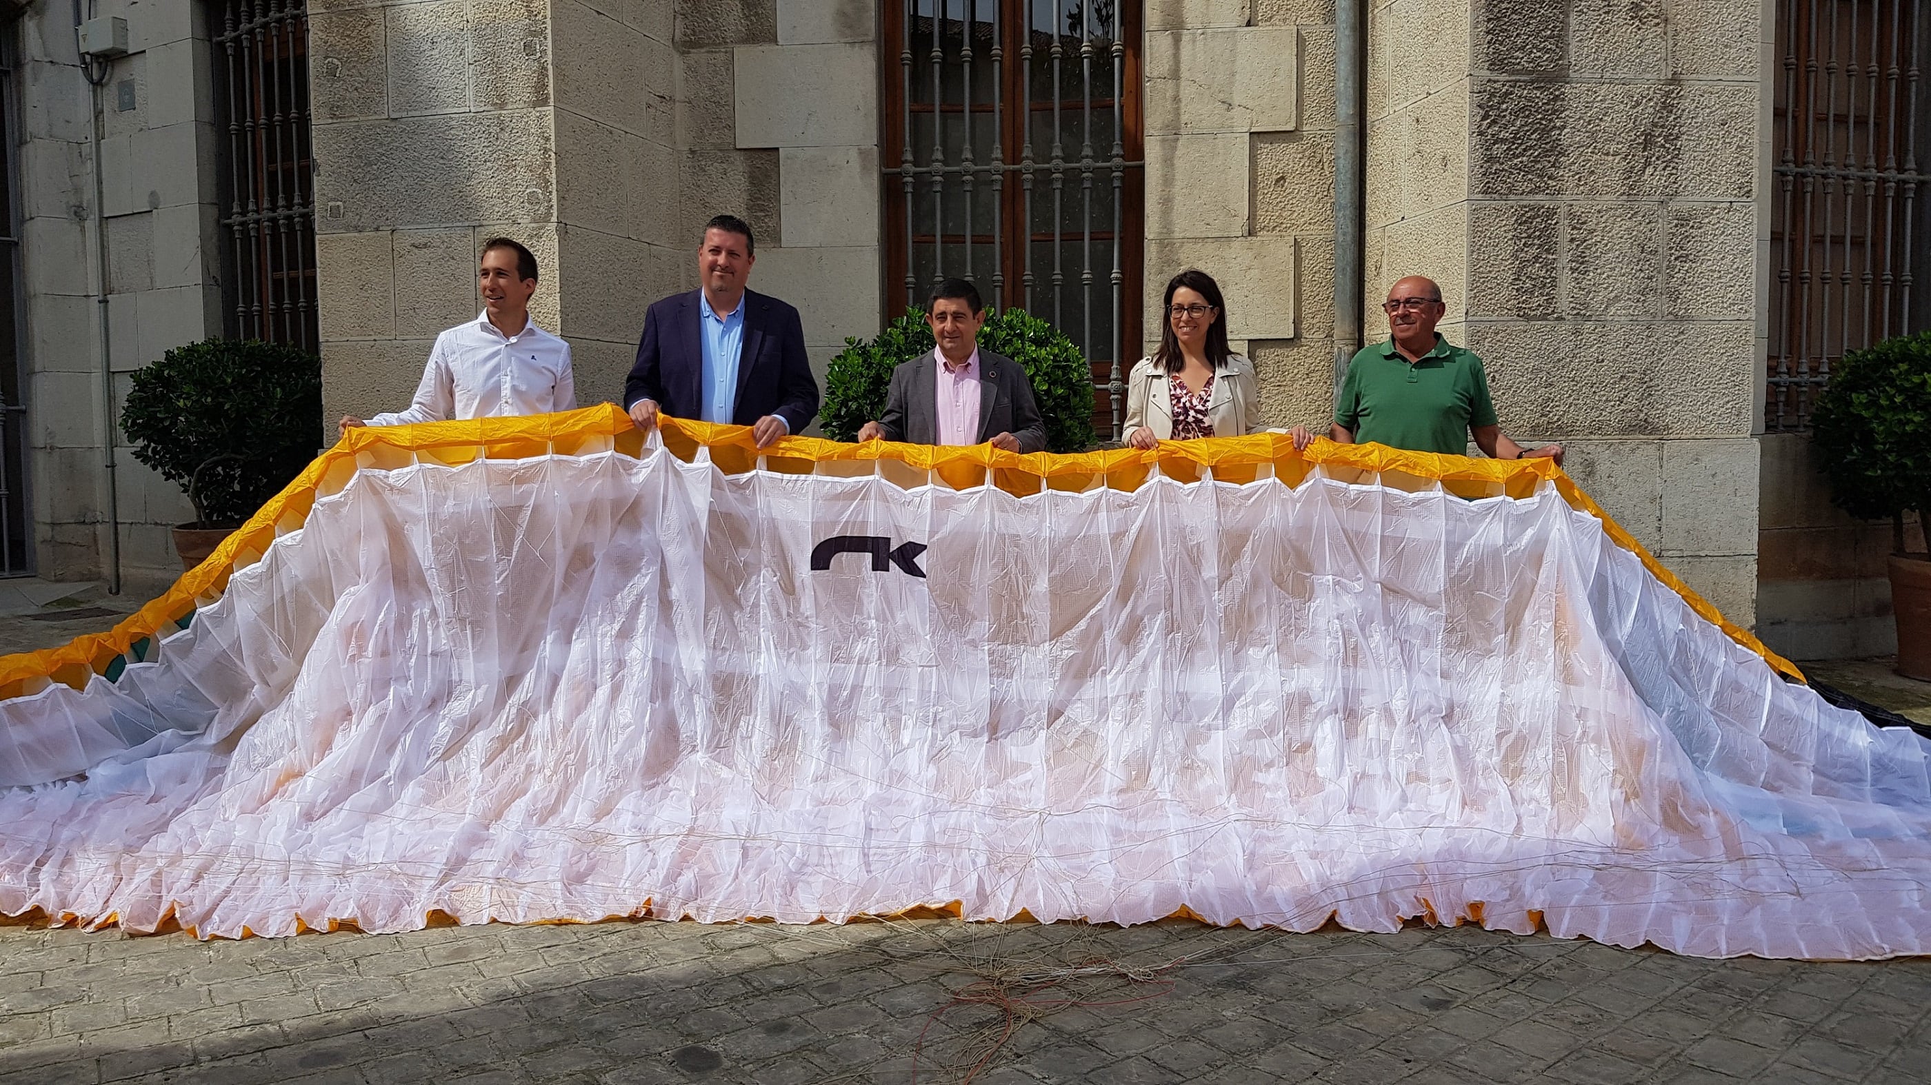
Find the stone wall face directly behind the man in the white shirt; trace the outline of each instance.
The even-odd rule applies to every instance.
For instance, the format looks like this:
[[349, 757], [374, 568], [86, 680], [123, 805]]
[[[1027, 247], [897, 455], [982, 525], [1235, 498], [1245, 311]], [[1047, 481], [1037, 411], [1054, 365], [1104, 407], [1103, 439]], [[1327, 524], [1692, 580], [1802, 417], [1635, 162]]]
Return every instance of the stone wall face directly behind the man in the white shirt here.
[[[531, 315], [570, 334], [560, 305], [570, 268], [558, 154], [564, 143], [587, 143], [591, 125], [558, 120], [554, 98], [575, 89], [552, 93], [550, 8], [548, 0], [309, 2], [319, 440], [334, 440], [340, 415], [409, 403], [436, 332], [481, 309], [477, 247], [489, 236], [529, 245], [543, 266]], [[610, 156], [601, 168], [622, 162]], [[597, 348], [577, 348], [577, 394], [595, 402]]]

